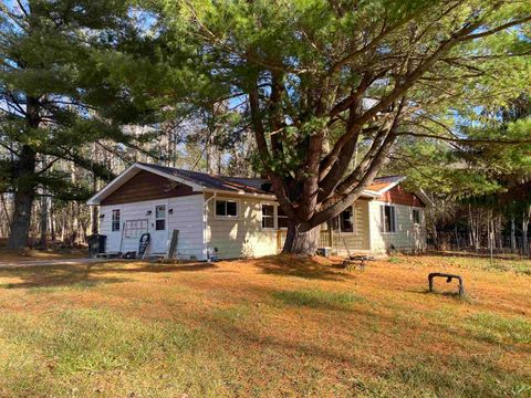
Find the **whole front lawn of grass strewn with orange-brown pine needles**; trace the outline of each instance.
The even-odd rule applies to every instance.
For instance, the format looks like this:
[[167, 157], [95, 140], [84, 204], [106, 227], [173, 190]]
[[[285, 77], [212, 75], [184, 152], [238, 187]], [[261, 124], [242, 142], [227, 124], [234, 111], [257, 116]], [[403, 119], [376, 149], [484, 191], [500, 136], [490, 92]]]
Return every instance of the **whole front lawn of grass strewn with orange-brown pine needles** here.
[[[459, 273], [468, 292], [437, 281]], [[0, 269], [1, 397], [531, 397], [531, 262]]]

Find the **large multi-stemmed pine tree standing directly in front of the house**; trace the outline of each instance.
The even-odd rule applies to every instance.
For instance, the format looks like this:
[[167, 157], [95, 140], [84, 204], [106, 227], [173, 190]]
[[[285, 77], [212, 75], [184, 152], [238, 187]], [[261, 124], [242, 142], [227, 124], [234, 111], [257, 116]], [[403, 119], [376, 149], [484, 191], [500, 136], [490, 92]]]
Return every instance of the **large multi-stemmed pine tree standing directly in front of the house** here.
[[399, 137], [469, 139], [441, 127], [448, 109], [507, 102], [530, 76], [529, 2], [153, 3], [162, 60], [195, 76], [181, 80], [186, 98], [242, 103], [257, 167], [290, 220], [288, 252], [314, 252], [319, 226], [360, 197]]

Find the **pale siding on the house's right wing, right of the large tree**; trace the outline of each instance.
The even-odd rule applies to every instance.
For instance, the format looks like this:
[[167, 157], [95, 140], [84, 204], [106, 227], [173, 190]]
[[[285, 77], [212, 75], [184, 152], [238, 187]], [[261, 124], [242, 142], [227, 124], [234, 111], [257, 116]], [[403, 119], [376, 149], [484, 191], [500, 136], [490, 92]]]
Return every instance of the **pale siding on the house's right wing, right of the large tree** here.
[[[383, 205], [395, 207], [396, 232], [381, 231], [381, 207]], [[413, 209], [417, 209], [420, 212], [419, 226], [413, 222]], [[424, 251], [426, 249], [426, 218], [424, 208], [373, 200], [369, 202], [369, 214], [371, 251], [373, 253], [386, 253], [393, 250], [393, 248], [404, 252]]]

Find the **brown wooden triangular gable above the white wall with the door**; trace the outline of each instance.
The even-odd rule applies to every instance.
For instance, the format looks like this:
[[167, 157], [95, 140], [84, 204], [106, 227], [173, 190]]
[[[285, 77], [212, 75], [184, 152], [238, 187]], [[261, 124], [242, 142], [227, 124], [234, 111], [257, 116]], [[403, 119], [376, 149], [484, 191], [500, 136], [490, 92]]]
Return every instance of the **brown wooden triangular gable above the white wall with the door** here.
[[163, 176], [140, 170], [128, 181], [104, 198], [101, 205], [123, 205], [144, 200], [167, 199], [200, 195], [191, 187]]

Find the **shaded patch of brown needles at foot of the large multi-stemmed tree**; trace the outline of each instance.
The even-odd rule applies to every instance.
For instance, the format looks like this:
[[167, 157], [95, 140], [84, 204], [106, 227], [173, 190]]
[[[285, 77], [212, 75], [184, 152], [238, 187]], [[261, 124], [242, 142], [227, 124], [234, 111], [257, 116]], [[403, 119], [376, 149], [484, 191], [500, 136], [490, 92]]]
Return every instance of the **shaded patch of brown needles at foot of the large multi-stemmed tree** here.
[[272, 255], [253, 261], [253, 265], [266, 274], [296, 276], [323, 281], [348, 281], [353, 274], [341, 271], [336, 264], [326, 259], [304, 258], [298, 255]]

